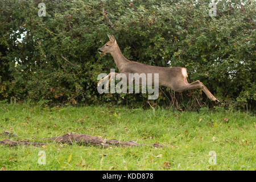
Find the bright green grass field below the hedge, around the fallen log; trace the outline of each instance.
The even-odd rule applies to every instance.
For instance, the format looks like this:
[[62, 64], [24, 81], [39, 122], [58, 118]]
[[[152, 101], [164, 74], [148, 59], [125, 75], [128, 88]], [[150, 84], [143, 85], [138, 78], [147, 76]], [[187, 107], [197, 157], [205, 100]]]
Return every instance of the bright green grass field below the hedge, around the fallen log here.
[[[255, 170], [256, 117], [239, 111], [181, 112], [127, 107], [0, 104], [0, 140], [46, 142], [66, 133], [167, 147], [94, 147], [48, 142], [0, 146], [6, 170]], [[225, 119], [224, 121], [224, 118]], [[3, 131], [15, 133], [8, 137]], [[38, 164], [39, 151], [46, 164]], [[216, 164], [209, 152], [216, 152]], [[213, 161], [213, 160], [210, 160]]]

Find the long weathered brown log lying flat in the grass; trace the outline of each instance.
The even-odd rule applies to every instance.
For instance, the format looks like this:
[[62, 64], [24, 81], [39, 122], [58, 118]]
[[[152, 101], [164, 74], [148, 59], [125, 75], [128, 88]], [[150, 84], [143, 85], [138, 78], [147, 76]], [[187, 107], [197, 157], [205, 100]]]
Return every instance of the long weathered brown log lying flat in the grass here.
[[[130, 147], [130, 146], [152, 146], [152, 147], [164, 147], [162, 144], [154, 143], [154, 144], [141, 144], [134, 141], [130, 142], [119, 142], [116, 139], [103, 139], [100, 137], [93, 137], [86, 134], [75, 134], [75, 133], [68, 133], [65, 135], [62, 135], [60, 137], [53, 137], [49, 138], [51, 141], [55, 141], [57, 143], [67, 143], [67, 144], [73, 144], [78, 143], [82, 145], [93, 145], [93, 146], [104, 146], [104, 147], [110, 147], [110, 146], [117, 146], [117, 147]], [[0, 141], [0, 144], [5, 144], [9, 146], [17, 146], [17, 145], [32, 145], [32, 146], [44, 146], [46, 143], [38, 143], [38, 142], [28, 142], [28, 141], [14, 141], [5, 139]]]

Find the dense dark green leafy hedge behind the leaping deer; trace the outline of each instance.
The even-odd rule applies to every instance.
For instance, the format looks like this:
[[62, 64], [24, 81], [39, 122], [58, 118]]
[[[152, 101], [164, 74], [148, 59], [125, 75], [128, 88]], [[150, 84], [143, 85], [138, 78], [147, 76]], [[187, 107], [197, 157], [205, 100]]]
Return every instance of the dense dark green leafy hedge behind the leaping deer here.
[[[38, 15], [41, 2], [46, 16]], [[218, 1], [212, 18], [210, 2], [2, 0], [0, 100], [146, 103], [142, 94], [97, 93], [98, 74], [117, 71], [110, 55], [97, 52], [108, 41], [106, 34], [113, 34], [127, 59], [186, 67], [190, 82], [204, 82], [226, 105], [253, 109], [255, 2]], [[170, 104], [171, 96], [162, 88], [154, 102]], [[183, 96], [184, 107], [211, 103], [198, 91]]]

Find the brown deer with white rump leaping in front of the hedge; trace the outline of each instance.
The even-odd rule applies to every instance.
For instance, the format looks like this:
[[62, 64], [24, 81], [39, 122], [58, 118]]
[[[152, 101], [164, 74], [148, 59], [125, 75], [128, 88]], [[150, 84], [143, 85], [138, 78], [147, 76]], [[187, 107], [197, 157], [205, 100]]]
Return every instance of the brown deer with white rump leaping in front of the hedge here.
[[[216, 101], [221, 104], [220, 101], [217, 100], [216, 97], [213, 96], [212, 93], [207, 89], [206, 86], [199, 80], [194, 81], [192, 83], [188, 83], [187, 81], [187, 69], [181, 67], [155, 67], [151, 65], [146, 65], [134, 61], [130, 61], [126, 59], [125, 56], [122, 55], [119, 46], [117, 44], [117, 40], [115, 40], [114, 35], [108, 35], [110, 41], [104, 44], [101, 48], [98, 49], [98, 52], [103, 53], [110, 53], [115, 61], [115, 65], [117, 65], [120, 73], [158, 73], [159, 74], [159, 86], [167, 86], [176, 92], [182, 92], [184, 90], [191, 90], [191, 89], [202, 89], [203, 92], [207, 95], [207, 97], [212, 100]], [[117, 75], [118, 73], [114, 73]], [[109, 78], [110, 77], [110, 78]], [[109, 79], [111, 80], [111, 75], [109, 73], [108, 76], [103, 78], [98, 82], [98, 85], [101, 84], [102, 81]], [[109, 82], [108, 80], [108, 82]]]

